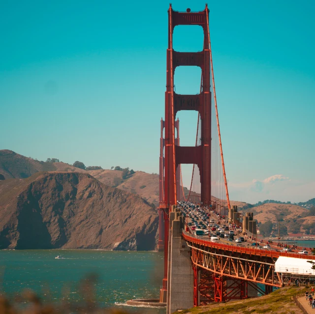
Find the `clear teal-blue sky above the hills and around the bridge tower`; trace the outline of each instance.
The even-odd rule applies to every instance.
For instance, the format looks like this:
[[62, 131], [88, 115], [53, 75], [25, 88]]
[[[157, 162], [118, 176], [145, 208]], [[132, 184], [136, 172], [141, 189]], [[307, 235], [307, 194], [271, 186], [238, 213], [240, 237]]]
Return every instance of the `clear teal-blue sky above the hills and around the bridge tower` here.
[[[168, 7], [1, 0], [0, 149], [158, 172]], [[172, 7], [199, 11], [205, 2]], [[314, 198], [315, 2], [226, 0], [209, 9], [230, 199]], [[200, 27], [176, 27], [174, 49], [202, 50], [202, 36]], [[176, 69], [177, 93], [197, 93], [199, 82], [198, 68]], [[181, 144], [193, 145], [197, 113], [178, 117]]]

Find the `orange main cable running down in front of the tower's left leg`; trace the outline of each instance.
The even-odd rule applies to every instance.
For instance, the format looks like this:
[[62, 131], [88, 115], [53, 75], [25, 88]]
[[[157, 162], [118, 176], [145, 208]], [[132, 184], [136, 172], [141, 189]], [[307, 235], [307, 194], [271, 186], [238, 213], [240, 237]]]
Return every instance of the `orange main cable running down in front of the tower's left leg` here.
[[176, 159], [175, 159], [175, 127], [174, 127], [174, 73], [173, 73], [173, 34], [172, 34], [172, 7], [169, 8], [169, 38], [170, 38], [170, 54], [171, 54], [171, 98], [172, 98], [172, 141], [173, 141], [173, 175], [174, 175], [174, 202], [177, 204], [177, 189], [176, 189]]

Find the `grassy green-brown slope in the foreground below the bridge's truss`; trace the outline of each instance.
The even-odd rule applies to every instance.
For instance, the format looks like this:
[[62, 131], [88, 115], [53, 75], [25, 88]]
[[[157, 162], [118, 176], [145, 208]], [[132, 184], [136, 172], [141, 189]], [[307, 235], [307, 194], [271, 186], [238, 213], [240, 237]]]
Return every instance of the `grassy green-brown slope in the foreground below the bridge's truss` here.
[[185, 310], [186, 314], [295, 314], [300, 310], [293, 301], [293, 296], [304, 295], [306, 288], [284, 287], [266, 296], [231, 301], [228, 303], [213, 303], [203, 307], [195, 307]]

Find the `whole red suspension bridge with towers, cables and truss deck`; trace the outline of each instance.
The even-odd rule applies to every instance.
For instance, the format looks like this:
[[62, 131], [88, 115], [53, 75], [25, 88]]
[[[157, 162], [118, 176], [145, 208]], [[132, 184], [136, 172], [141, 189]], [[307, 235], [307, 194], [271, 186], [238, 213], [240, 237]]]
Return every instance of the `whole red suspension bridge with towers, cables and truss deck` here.
[[[201, 52], [174, 51], [173, 30], [179, 25], [203, 28]], [[174, 91], [174, 73], [179, 66], [201, 68], [199, 94], [183, 95]], [[198, 112], [195, 146], [180, 145], [180, 121], [176, 117], [183, 110]], [[181, 164], [193, 165], [187, 193], [183, 186]], [[266, 294], [273, 287], [292, 281], [292, 277], [284, 279], [283, 274], [276, 271], [279, 257], [314, 259], [199, 238], [191, 233], [178, 208], [178, 201], [199, 204], [208, 209], [209, 215], [216, 212], [228, 216], [229, 222], [235, 222], [237, 217], [239, 222], [239, 216], [235, 216], [237, 209], [235, 206], [231, 208], [228, 196], [207, 5], [200, 12], [191, 12], [190, 9], [178, 12], [171, 5], [168, 10], [165, 120], [161, 119], [159, 157], [158, 249], [164, 250], [164, 278], [159, 303], [167, 303], [167, 314], [170, 314], [178, 309], [213, 301]], [[247, 218], [252, 219], [250, 215]]]

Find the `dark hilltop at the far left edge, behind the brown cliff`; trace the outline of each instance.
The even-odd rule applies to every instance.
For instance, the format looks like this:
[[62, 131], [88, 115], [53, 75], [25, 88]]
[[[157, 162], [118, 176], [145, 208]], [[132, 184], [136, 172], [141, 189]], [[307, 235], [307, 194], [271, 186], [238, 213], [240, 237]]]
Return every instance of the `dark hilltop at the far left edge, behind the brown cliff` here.
[[54, 171], [52, 163], [33, 160], [15, 153], [12, 150], [0, 150], [0, 174], [5, 179], [27, 178], [38, 171]]

